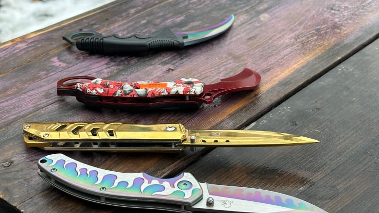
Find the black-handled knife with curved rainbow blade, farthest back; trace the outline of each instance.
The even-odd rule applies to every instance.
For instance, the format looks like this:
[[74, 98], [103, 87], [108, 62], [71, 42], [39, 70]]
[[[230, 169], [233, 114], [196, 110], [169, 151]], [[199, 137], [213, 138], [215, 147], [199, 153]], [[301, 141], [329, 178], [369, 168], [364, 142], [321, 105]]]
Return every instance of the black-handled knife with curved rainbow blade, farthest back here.
[[79, 31], [64, 35], [63, 40], [71, 45], [76, 45], [79, 50], [97, 54], [131, 54], [181, 49], [224, 33], [232, 26], [233, 21], [234, 16], [231, 15], [223, 22], [201, 30], [173, 32], [169, 29], [163, 29], [148, 37], [139, 35], [129, 37], [120, 37], [119, 35], [104, 36], [97, 32]]

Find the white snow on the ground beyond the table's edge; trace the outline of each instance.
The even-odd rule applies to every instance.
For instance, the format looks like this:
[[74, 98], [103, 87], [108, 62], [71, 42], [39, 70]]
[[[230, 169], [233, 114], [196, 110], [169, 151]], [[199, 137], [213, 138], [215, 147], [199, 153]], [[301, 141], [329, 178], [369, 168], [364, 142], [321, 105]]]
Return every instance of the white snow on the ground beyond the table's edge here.
[[0, 0], [0, 42], [34, 32], [113, 0]]

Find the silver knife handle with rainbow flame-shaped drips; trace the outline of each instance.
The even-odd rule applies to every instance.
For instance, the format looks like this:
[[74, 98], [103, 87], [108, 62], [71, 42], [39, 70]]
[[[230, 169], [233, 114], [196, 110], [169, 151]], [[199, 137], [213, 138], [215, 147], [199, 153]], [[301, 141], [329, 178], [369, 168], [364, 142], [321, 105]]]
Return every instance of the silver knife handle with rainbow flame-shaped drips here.
[[[130, 201], [138, 201], [135, 204], [138, 208], [149, 203], [151, 209], [162, 209], [159, 203], [168, 203], [179, 205], [184, 210], [183, 206], [192, 206], [203, 197], [199, 182], [190, 173], [160, 179], [146, 173], [121, 173], [97, 168], [63, 154], [41, 158], [38, 168], [40, 176], [55, 187], [103, 204], [133, 207]], [[128, 204], [123, 205], [123, 201]]]

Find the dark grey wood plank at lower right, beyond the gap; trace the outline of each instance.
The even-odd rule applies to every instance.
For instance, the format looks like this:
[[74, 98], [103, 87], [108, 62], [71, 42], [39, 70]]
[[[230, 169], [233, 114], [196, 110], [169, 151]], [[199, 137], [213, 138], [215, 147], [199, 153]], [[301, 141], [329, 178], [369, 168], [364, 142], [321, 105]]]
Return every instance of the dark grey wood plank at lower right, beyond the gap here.
[[320, 140], [297, 147], [216, 148], [186, 168], [199, 181], [299, 197], [330, 213], [379, 202], [379, 40], [250, 125]]

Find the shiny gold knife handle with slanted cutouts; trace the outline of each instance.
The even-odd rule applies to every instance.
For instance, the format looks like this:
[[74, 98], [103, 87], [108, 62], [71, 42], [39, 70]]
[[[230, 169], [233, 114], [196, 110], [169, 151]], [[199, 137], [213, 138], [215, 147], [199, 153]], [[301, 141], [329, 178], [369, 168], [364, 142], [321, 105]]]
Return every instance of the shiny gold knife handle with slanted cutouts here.
[[[142, 125], [121, 122], [23, 123], [22, 130], [25, 144], [28, 147], [51, 147], [57, 143], [82, 144], [98, 142], [176, 144], [186, 139], [186, 130], [182, 124]], [[72, 147], [74, 146], [76, 145]], [[79, 146], [77, 145], [77, 149], [79, 149]], [[65, 148], [69, 150], [68, 147]], [[179, 149], [181, 148], [179, 147]]]

